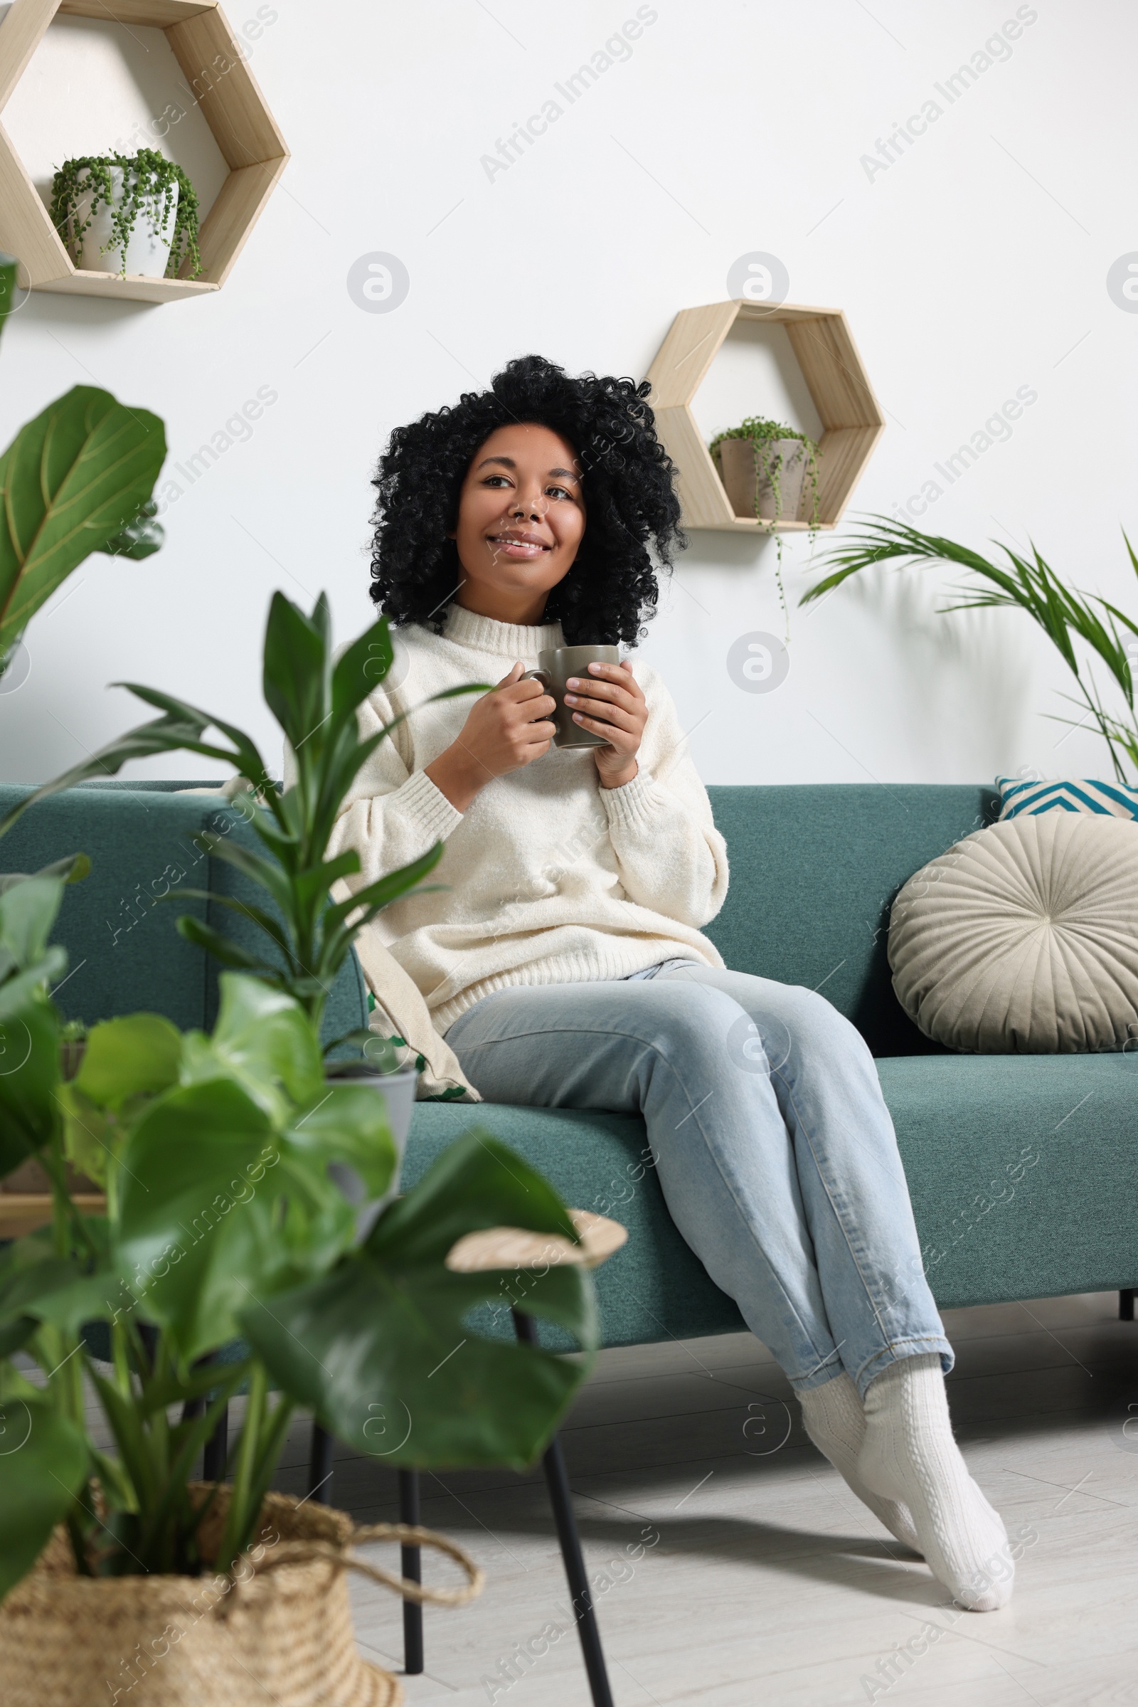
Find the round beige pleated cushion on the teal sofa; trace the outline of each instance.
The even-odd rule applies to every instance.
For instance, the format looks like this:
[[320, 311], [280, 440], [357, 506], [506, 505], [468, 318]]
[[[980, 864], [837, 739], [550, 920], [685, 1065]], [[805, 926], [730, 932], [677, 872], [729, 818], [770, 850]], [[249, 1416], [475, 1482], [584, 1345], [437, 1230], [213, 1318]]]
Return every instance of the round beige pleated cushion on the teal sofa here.
[[892, 987], [925, 1036], [979, 1055], [1138, 1046], [1138, 824], [1012, 818], [909, 877]]

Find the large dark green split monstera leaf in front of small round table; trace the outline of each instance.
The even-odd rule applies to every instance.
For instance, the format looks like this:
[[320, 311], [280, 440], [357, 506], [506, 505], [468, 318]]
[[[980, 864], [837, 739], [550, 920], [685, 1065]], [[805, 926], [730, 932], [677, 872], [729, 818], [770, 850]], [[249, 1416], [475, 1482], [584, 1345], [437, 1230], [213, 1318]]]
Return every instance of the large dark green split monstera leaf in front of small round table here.
[[[321, 1280], [251, 1301], [242, 1330], [282, 1388], [355, 1451], [391, 1466], [520, 1470], [549, 1441], [590, 1359], [486, 1340], [469, 1326], [478, 1304], [503, 1304], [503, 1275], [452, 1273], [444, 1256], [490, 1226], [575, 1238], [551, 1186], [474, 1130], [384, 1212], [362, 1251]], [[548, 1267], [525, 1309], [595, 1349], [587, 1270]]]

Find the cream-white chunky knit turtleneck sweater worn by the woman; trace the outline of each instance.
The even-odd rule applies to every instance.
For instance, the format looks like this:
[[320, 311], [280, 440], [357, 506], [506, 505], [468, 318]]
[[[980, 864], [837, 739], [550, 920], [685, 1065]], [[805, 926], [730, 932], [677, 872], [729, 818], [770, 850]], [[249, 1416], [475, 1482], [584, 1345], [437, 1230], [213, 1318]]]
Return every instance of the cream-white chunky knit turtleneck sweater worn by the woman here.
[[[473, 696], [421, 702], [464, 681], [498, 683], [563, 645], [560, 623], [524, 628], [450, 606], [445, 632], [396, 632], [396, 667], [360, 707], [369, 736], [421, 707], [379, 744], [336, 821], [329, 854], [357, 848], [350, 889], [445, 842], [432, 883], [369, 927], [423, 993], [437, 1031], [491, 990], [619, 978], [682, 956], [722, 966], [700, 925], [727, 894], [727, 848], [672, 700], [647, 664], [640, 772], [602, 789], [590, 749], [549, 751], [488, 782], [459, 813], [425, 766], [461, 732]], [[398, 683], [394, 686], [392, 683]]]

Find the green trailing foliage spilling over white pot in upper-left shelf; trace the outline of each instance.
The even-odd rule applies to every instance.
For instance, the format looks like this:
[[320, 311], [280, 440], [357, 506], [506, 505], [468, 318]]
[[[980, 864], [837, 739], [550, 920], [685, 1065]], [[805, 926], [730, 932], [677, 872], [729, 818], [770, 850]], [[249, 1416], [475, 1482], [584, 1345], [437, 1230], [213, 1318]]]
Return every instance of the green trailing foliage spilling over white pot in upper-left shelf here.
[[[116, 200], [113, 169], [123, 174], [123, 195]], [[177, 191], [174, 208], [174, 241], [165, 277], [176, 278], [177, 268], [186, 256], [193, 261], [191, 278], [201, 271], [201, 254], [198, 253], [198, 195], [181, 166], [167, 160], [157, 149], [140, 149], [138, 154], [97, 154], [65, 160], [51, 183], [51, 224], [68, 246], [72, 259], [78, 265], [78, 253], [84, 232], [94, 222], [101, 207], [111, 208], [111, 236], [102, 244], [101, 254], [118, 249], [121, 268], [126, 271], [126, 244], [140, 215], [150, 220], [150, 230], [159, 237], [171, 217], [171, 203]], [[90, 196], [90, 208], [85, 220], [78, 217], [78, 205], [84, 196]]]

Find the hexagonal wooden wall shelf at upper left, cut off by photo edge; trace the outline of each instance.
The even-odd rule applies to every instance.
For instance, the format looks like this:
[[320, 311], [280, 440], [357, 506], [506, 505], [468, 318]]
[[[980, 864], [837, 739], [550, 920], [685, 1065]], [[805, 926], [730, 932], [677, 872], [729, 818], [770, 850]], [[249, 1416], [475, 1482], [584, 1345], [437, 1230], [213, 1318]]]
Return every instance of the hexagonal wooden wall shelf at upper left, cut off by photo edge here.
[[[288, 149], [217, 0], [14, 0], [0, 24], [0, 113], [56, 12], [164, 31], [229, 176], [198, 234], [203, 270], [196, 278], [84, 271], [72, 263], [12, 138], [0, 128], [0, 249], [19, 256], [32, 290], [136, 302], [218, 290], [285, 169]], [[183, 261], [183, 271], [188, 266]]]

